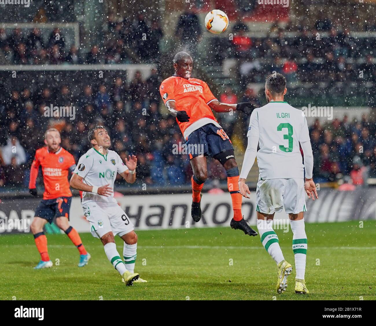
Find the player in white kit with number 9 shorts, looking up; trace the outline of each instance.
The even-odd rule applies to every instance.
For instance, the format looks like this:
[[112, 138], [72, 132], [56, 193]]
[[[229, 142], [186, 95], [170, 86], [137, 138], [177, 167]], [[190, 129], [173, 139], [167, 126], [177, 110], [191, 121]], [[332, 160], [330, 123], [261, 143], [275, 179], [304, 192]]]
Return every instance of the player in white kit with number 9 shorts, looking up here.
[[[105, 127], [97, 125], [88, 133], [92, 148], [77, 163], [70, 186], [83, 191], [81, 205], [90, 223], [91, 234], [100, 238], [108, 260], [123, 276], [126, 285], [147, 282], [134, 272], [137, 256], [137, 235], [133, 223], [114, 198], [114, 182], [120, 174], [128, 183], [136, 180], [137, 158], [129, 155], [125, 164], [109, 150], [111, 139]], [[114, 236], [124, 240], [124, 261], [116, 249]]]

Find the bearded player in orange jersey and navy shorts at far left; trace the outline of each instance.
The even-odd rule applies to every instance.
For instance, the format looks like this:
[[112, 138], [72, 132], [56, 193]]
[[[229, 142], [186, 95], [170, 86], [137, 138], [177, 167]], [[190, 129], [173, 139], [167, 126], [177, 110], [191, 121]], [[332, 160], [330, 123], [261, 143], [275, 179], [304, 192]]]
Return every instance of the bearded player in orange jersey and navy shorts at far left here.
[[43, 200], [36, 208], [31, 231], [35, 238], [36, 248], [41, 254], [41, 261], [34, 269], [52, 267], [47, 251], [47, 237], [44, 235], [43, 226], [45, 223], [52, 223], [56, 217], [56, 224], [72, 240], [80, 252], [78, 266], [85, 266], [90, 254], [86, 252], [82, 245], [81, 238], [77, 231], [69, 225], [69, 208], [72, 193], [69, 189], [68, 174], [76, 168], [73, 155], [60, 147], [60, 133], [55, 128], [50, 128], [45, 132], [44, 143], [47, 145], [35, 152], [35, 158], [31, 165], [29, 191], [33, 196], [37, 196], [36, 178], [38, 177], [39, 166], [42, 167], [44, 193]]

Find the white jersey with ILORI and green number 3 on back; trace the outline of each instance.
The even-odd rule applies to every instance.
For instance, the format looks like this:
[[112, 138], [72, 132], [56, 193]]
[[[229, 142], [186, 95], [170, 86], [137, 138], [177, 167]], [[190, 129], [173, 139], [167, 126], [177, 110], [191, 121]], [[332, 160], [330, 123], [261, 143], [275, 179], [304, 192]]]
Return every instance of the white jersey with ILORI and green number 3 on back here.
[[253, 110], [247, 136], [258, 136], [261, 180], [304, 178], [299, 142], [309, 141], [302, 110], [287, 102], [270, 102]]

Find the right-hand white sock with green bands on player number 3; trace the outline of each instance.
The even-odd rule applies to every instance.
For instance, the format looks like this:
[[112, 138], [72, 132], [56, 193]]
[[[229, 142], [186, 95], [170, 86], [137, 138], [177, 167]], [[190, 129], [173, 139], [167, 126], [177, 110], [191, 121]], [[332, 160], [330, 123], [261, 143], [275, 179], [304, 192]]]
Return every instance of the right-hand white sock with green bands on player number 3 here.
[[290, 220], [293, 231], [293, 252], [295, 257], [296, 278], [304, 279], [307, 258], [307, 235], [305, 233], [304, 219]]

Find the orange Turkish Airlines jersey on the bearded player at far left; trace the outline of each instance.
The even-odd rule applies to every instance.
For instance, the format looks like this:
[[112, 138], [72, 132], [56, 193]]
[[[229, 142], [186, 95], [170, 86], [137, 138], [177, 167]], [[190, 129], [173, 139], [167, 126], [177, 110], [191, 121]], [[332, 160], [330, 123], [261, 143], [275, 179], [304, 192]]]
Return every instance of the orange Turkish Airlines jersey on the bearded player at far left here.
[[36, 187], [39, 166], [42, 166], [44, 181], [43, 199], [72, 196], [68, 181], [70, 171], [76, 167], [72, 154], [62, 147], [56, 153], [49, 152], [47, 147], [37, 149], [31, 165], [29, 188]]

